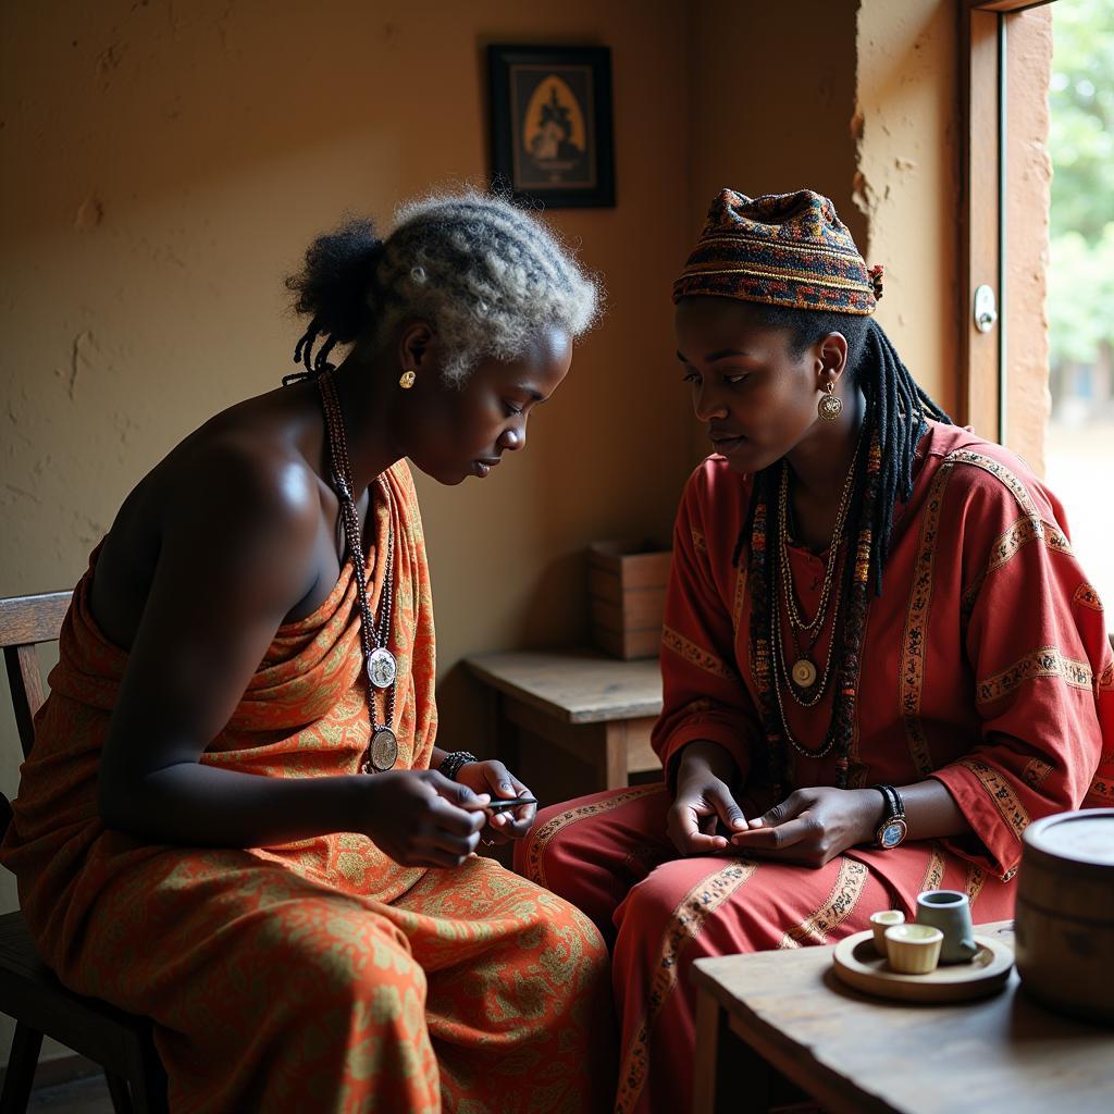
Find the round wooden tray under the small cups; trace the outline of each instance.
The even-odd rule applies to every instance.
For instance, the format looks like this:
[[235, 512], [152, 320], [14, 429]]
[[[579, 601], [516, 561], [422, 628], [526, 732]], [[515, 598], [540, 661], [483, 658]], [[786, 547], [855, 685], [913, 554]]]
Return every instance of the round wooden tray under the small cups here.
[[840, 981], [882, 998], [907, 1001], [962, 1001], [996, 994], [1009, 978], [1014, 952], [989, 936], [976, 936], [969, 964], [937, 967], [927, 975], [899, 975], [874, 949], [873, 932], [856, 932], [836, 945], [832, 962]]

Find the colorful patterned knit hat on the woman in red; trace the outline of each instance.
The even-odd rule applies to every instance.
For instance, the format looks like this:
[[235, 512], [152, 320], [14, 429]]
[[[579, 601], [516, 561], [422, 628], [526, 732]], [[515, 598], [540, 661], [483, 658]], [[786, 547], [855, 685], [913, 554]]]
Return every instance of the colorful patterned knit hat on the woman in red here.
[[827, 197], [724, 189], [673, 284], [674, 302], [691, 294], [867, 314], [882, 296], [882, 268], [867, 267]]

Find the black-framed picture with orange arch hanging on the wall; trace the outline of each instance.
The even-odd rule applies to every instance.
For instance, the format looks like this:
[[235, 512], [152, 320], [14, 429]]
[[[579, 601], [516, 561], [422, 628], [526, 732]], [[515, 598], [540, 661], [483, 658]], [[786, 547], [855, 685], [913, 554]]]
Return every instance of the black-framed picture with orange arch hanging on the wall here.
[[488, 47], [496, 185], [549, 208], [615, 204], [607, 47]]

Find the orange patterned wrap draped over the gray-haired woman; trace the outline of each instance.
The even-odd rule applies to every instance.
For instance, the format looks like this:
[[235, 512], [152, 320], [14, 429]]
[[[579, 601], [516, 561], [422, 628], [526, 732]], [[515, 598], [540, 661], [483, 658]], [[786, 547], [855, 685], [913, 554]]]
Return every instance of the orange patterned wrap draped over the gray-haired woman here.
[[[365, 571], [381, 583], [393, 515], [399, 766], [421, 769], [437, 730], [429, 575], [405, 465], [388, 481]], [[96, 556], [0, 859], [62, 981], [154, 1018], [170, 1108], [593, 1110], [613, 1066], [607, 959], [559, 898], [488, 859], [402, 868], [360, 834], [221, 850], [105, 829], [97, 764], [127, 655], [89, 614]], [[355, 589], [348, 564], [278, 629], [204, 762], [356, 773], [370, 727]]]

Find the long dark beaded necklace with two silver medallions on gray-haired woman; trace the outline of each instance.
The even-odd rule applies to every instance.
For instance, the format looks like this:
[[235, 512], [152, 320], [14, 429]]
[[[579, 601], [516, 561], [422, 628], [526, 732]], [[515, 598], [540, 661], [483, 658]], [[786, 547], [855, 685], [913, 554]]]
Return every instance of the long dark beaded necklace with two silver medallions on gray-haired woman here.
[[[387, 500], [387, 557], [383, 560], [383, 579], [379, 590], [379, 617], [372, 615], [368, 603], [367, 561], [360, 536], [360, 515], [355, 507], [352, 466], [348, 455], [348, 439], [336, 384], [330, 372], [317, 379], [321, 404], [325, 412], [325, 433], [329, 440], [329, 458], [333, 473], [333, 487], [341, 508], [341, 525], [348, 543], [355, 577], [356, 595], [360, 599], [360, 642], [363, 646], [364, 672], [368, 677], [368, 710], [371, 719], [371, 740], [360, 763], [363, 773], [390, 770], [398, 761], [399, 741], [393, 731], [394, 695], [398, 664], [388, 648], [391, 638], [391, 606], [394, 595], [394, 530], [391, 526], [392, 500], [387, 480], [380, 476], [379, 485]], [[370, 514], [370, 510], [369, 510]], [[384, 694], [383, 721], [379, 721], [379, 694]]]

